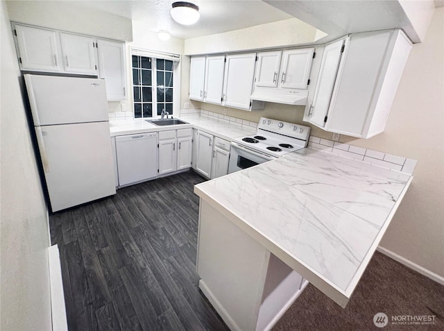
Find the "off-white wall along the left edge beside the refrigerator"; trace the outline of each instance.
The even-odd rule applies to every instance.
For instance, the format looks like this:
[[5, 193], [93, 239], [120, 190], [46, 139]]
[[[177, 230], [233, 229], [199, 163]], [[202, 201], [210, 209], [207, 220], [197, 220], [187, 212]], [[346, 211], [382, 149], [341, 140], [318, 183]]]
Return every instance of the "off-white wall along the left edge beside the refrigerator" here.
[[1, 16], [1, 330], [51, 330], [49, 229], [8, 13]]

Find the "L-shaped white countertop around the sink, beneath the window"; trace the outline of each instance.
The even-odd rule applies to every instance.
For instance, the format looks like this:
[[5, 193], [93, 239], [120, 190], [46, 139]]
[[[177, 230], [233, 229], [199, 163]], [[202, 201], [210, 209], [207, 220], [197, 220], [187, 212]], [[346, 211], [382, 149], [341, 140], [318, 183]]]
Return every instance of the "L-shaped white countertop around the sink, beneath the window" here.
[[[175, 117], [176, 118], [176, 117]], [[197, 128], [203, 130], [216, 137], [231, 141], [235, 137], [244, 137], [246, 135], [252, 135], [255, 131], [239, 128], [237, 126], [230, 126], [221, 121], [215, 121], [208, 117], [200, 116], [183, 116], [178, 117], [187, 124], [180, 124], [175, 126], [155, 126], [144, 119], [134, 119], [130, 121], [110, 121], [110, 134], [111, 137], [117, 135], [132, 135], [137, 133], [148, 133], [164, 130], [176, 130], [181, 128]]]

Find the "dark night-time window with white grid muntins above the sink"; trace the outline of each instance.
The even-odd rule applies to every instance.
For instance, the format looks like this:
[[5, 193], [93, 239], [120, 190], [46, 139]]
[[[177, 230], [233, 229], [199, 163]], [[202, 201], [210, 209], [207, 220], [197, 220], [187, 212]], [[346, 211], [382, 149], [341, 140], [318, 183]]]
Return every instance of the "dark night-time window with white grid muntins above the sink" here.
[[133, 55], [134, 117], [173, 114], [173, 61]]

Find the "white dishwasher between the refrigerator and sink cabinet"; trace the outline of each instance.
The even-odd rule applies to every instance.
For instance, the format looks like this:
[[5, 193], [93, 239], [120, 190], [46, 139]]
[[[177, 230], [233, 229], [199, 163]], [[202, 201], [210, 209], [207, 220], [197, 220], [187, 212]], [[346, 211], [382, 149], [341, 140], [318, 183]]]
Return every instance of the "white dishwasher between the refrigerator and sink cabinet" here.
[[119, 186], [157, 176], [157, 133], [116, 137]]

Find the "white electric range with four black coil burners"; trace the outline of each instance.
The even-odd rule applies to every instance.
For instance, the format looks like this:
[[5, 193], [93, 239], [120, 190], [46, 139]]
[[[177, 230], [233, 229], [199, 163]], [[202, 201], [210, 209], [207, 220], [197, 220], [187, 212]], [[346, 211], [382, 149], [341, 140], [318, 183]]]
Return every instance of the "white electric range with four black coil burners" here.
[[309, 135], [308, 126], [261, 117], [255, 135], [233, 139], [228, 173], [305, 148]]

